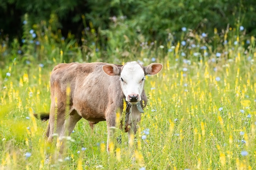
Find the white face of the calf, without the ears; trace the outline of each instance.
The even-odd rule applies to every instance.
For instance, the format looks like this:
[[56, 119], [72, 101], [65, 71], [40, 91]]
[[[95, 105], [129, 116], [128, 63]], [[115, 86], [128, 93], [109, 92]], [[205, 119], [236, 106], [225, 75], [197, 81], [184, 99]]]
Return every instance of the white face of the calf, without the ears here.
[[145, 79], [141, 66], [137, 62], [127, 63], [121, 71], [120, 79], [126, 101], [131, 104], [140, 101]]

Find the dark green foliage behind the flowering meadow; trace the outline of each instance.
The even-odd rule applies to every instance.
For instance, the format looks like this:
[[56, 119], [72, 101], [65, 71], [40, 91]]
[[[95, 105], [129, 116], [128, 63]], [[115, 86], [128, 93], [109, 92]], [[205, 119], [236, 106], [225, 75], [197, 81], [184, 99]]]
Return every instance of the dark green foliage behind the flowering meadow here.
[[[78, 41], [81, 31], [90, 27], [96, 30], [101, 44], [111, 38], [101, 30], [112, 31], [116, 37], [123, 30], [133, 39], [143, 35], [146, 41], [166, 44], [168, 33], [175, 35], [174, 42], [179, 40], [182, 27], [212, 36], [214, 28], [221, 32], [228, 25], [232, 28], [243, 25], [249, 35], [254, 35], [255, 10], [253, 0], [2, 0], [0, 29], [2, 37], [6, 34], [11, 38], [20, 37], [26, 13], [31, 26], [42, 20], [48, 24], [55, 15], [56, 25], [52, 29], [61, 29], [65, 37], [72, 31]], [[125, 18], [121, 29], [111, 29], [110, 18], [114, 16]]]

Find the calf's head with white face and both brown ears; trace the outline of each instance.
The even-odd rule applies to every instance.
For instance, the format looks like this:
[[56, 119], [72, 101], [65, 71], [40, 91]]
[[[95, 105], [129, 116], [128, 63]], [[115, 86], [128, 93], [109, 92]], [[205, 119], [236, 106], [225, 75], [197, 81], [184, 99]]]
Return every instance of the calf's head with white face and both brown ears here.
[[162, 70], [162, 67], [163, 65], [159, 63], [152, 63], [145, 67], [137, 62], [128, 62], [121, 67], [107, 64], [102, 66], [102, 69], [107, 75], [120, 76], [121, 88], [126, 101], [136, 104], [141, 101], [145, 75], [155, 75]]

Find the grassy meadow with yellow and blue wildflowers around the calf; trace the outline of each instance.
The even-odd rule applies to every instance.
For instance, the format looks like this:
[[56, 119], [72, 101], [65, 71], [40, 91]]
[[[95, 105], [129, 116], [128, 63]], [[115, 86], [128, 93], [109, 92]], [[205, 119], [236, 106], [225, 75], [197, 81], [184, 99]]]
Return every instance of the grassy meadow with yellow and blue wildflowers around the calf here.
[[[34, 30], [25, 29], [22, 49], [15, 40], [0, 46], [0, 170], [256, 169], [255, 38], [246, 38], [242, 27], [216, 33], [211, 43], [205, 33], [183, 30], [175, 45], [130, 43], [134, 53], [124, 57], [116, 49], [104, 59], [95, 43], [79, 48], [50, 30]], [[164, 65], [159, 74], [146, 76], [148, 106], [130, 144], [117, 128], [122, 143], [112, 143], [108, 155], [106, 122], [91, 130], [84, 119], [65, 139], [63, 157], [57, 135], [52, 145], [46, 143], [48, 121], [33, 114], [49, 112], [51, 70], [67, 59]]]

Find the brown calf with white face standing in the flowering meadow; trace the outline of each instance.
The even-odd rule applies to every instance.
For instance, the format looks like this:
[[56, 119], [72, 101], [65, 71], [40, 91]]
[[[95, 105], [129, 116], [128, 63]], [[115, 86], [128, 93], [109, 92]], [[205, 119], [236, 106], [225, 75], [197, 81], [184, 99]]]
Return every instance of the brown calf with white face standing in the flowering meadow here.
[[[140, 102], [144, 107], [147, 103], [144, 92], [145, 75], [155, 75], [161, 70], [162, 64], [159, 63], [146, 67], [137, 62], [128, 62], [124, 66], [102, 62], [58, 64], [52, 70], [50, 78], [50, 113], [46, 117], [40, 117], [49, 119], [47, 141], [52, 141], [54, 133], [61, 139], [65, 135], [65, 129], [70, 135], [82, 117], [89, 121], [90, 126], [106, 120], [109, 152], [110, 128], [115, 126], [117, 110], [123, 110], [124, 99], [131, 104], [132, 112], [127, 119], [125, 131], [128, 135], [136, 133], [137, 122], [141, 119], [136, 104]], [[67, 87], [70, 87], [70, 94], [66, 94]]]

